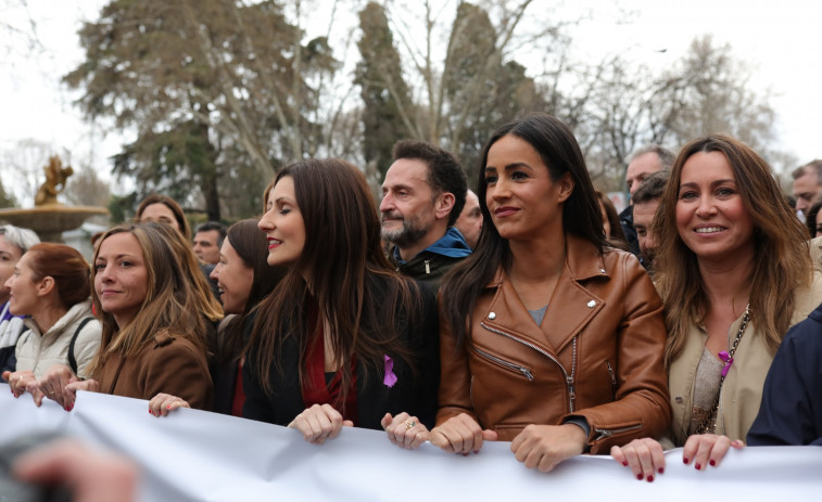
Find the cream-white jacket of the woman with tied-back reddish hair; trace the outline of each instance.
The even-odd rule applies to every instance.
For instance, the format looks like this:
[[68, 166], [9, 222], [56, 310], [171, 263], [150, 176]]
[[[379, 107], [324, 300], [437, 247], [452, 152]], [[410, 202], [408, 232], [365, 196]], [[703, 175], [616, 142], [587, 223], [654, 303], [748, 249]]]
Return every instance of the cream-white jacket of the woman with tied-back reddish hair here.
[[[68, 365], [68, 345], [72, 336], [79, 327], [84, 319], [91, 317], [91, 300], [86, 300], [72, 306], [71, 309], [58, 319], [58, 322], [46, 333], [40, 333], [37, 324], [30, 319], [24, 323], [28, 331], [17, 339], [15, 356], [17, 358], [16, 371], [33, 371], [38, 378], [53, 364]], [[84, 369], [91, 361], [100, 347], [102, 327], [97, 319], [88, 322], [74, 345], [74, 358], [77, 361], [77, 370], [80, 376], [85, 376]]]

